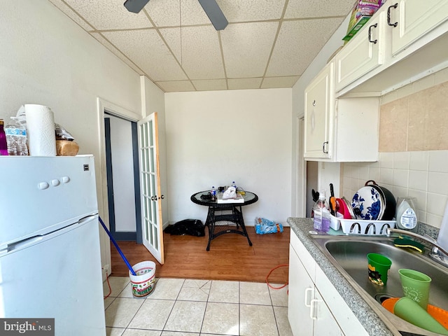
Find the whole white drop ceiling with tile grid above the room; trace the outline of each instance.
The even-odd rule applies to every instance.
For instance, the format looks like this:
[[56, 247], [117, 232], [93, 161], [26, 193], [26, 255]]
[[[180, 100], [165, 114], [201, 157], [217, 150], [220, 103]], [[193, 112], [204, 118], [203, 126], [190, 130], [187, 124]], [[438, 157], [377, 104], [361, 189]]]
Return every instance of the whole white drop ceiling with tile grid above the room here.
[[49, 0], [164, 92], [293, 87], [353, 0], [217, 0], [216, 31], [197, 0]]

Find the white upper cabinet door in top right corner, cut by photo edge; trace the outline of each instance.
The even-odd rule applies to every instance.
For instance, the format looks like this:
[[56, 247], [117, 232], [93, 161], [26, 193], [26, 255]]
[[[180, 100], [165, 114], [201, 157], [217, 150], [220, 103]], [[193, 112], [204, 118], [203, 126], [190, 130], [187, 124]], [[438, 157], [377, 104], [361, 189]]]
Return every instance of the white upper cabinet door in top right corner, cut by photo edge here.
[[[398, 0], [396, 8], [389, 8], [392, 29], [392, 55], [405, 50], [408, 45], [448, 19], [447, 0]], [[386, 6], [395, 5], [388, 1]]]

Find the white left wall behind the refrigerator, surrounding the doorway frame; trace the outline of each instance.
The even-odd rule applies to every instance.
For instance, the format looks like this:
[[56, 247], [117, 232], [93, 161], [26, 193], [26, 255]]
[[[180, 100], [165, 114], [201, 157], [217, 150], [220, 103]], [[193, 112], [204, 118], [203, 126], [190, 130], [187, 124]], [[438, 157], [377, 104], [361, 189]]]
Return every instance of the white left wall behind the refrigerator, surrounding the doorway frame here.
[[[102, 216], [97, 97], [140, 114], [139, 75], [48, 1], [2, 1], [0, 31], [0, 118], [9, 120], [22, 104], [50, 106], [79, 153], [95, 156]], [[109, 237], [100, 232], [102, 262], [110, 265]]]

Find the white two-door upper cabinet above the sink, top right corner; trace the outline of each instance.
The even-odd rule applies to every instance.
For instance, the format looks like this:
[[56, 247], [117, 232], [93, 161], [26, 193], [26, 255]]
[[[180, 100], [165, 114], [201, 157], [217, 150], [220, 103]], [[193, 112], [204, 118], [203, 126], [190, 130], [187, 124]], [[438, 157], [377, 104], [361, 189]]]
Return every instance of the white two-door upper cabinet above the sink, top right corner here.
[[335, 96], [381, 96], [448, 67], [448, 0], [388, 0], [335, 55]]

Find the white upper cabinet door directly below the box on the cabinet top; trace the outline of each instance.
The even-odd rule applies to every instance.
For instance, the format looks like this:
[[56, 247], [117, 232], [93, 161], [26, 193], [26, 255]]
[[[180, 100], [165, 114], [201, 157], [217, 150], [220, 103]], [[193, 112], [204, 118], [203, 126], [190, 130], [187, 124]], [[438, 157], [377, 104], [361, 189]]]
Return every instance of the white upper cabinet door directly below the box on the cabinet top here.
[[335, 90], [384, 63], [386, 13], [370, 19], [335, 57]]

